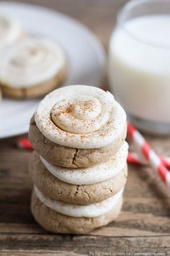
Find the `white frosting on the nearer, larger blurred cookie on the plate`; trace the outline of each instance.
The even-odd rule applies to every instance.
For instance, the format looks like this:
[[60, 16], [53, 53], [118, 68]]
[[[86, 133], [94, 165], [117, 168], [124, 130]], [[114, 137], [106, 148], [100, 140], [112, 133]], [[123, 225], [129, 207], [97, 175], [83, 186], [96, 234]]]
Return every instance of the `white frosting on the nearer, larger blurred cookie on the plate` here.
[[46, 82], [64, 67], [61, 48], [44, 38], [24, 38], [1, 54], [0, 80], [14, 88], [28, 88]]

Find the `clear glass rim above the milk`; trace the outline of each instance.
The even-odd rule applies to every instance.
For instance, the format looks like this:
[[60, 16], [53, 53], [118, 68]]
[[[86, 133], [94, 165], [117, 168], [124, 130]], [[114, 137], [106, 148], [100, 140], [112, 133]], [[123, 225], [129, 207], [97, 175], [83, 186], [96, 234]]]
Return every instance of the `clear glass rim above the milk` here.
[[152, 43], [152, 42], [149, 42], [148, 40], [142, 40], [142, 39], [138, 38], [133, 33], [130, 33], [130, 31], [124, 26], [124, 21], [123, 21], [123, 16], [125, 15], [125, 13], [129, 12], [130, 9], [132, 9], [135, 6], [140, 6], [141, 4], [147, 4], [147, 3], [151, 3], [151, 4], [160, 3], [160, 4], [162, 4], [163, 2], [169, 4], [169, 7], [170, 7], [170, 1], [169, 0], [130, 0], [117, 13], [117, 25], [120, 26], [122, 28], [122, 30], [124, 30], [125, 33], [128, 36], [130, 36], [130, 38], [133, 38], [133, 40], [138, 41], [139, 43], [143, 43], [145, 45], [156, 47], [156, 48], [170, 49], [170, 44], [169, 45], [163, 45], [161, 43]]

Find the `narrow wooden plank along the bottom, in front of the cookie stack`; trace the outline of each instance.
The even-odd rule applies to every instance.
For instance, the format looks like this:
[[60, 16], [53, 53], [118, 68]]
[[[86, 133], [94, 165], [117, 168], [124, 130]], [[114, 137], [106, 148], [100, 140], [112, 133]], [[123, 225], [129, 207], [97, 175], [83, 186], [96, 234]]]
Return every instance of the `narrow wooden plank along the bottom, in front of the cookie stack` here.
[[55, 235], [55, 234], [0, 234], [1, 249], [51, 249], [58, 247], [82, 247], [81, 241], [86, 247], [160, 247], [169, 248], [169, 236], [142, 236], [135, 237], [112, 237], [112, 236], [71, 236], [71, 235]]

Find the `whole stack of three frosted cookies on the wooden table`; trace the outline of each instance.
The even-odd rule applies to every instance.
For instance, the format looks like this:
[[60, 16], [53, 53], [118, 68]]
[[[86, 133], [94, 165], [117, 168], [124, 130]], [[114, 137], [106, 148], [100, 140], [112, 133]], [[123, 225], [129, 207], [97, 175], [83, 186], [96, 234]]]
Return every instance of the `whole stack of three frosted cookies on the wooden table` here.
[[86, 234], [115, 220], [128, 176], [126, 115], [86, 85], [49, 93], [30, 121], [31, 210], [48, 231]]

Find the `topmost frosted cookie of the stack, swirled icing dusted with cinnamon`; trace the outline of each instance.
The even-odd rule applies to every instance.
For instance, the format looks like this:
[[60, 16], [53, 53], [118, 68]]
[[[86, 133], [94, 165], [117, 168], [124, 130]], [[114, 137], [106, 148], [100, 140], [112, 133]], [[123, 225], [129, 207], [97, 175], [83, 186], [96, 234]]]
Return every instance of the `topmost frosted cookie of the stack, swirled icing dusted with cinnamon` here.
[[117, 153], [126, 137], [126, 115], [112, 94], [86, 85], [49, 93], [30, 122], [29, 138], [46, 161], [86, 167]]

